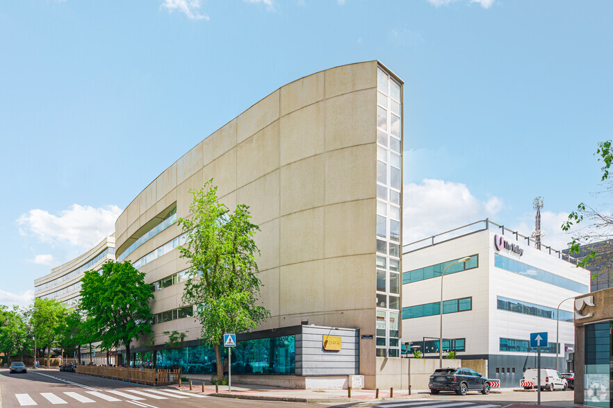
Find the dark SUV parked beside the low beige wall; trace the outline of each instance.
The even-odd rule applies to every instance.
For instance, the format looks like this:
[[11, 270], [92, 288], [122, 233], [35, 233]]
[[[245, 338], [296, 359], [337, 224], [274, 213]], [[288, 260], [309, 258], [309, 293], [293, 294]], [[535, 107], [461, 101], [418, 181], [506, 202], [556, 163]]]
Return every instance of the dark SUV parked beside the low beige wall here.
[[428, 383], [430, 393], [455, 391], [459, 396], [465, 396], [468, 391], [480, 391], [489, 394], [489, 380], [471, 368], [437, 368], [430, 375]]

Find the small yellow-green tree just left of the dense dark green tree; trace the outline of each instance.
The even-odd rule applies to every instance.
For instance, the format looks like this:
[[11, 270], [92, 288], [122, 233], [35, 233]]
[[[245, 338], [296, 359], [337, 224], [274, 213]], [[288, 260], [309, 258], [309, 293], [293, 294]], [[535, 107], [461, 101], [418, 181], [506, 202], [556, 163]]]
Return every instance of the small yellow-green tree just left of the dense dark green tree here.
[[35, 298], [30, 310], [30, 324], [40, 348], [47, 348], [47, 368], [51, 359], [51, 346], [58, 337], [67, 310], [55, 299]]

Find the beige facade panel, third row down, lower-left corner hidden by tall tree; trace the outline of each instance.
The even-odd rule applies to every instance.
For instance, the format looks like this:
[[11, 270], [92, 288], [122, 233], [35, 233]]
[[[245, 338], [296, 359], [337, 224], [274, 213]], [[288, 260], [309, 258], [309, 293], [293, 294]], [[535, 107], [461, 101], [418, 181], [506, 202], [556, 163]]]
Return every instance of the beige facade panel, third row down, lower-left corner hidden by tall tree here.
[[236, 192], [237, 203], [249, 205], [256, 225], [279, 217], [279, 170], [240, 187]]

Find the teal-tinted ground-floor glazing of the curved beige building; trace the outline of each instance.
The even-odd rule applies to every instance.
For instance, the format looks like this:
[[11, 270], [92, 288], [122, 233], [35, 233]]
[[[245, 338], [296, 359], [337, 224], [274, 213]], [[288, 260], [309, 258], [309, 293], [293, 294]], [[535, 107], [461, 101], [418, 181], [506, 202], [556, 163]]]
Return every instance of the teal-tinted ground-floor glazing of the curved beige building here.
[[[227, 358], [227, 349], [222, 348]], [[151, 366], [153, 352], [137, 352], [136, 366]], [[157, 368], [181, 368], [182, 373], [216, 374], [217, 362], [212, 346], [189, 346], [158, 350]], [[232, 350], [232, 373], [295, 374], [295, 337], [271, 337], [239, 341]]]

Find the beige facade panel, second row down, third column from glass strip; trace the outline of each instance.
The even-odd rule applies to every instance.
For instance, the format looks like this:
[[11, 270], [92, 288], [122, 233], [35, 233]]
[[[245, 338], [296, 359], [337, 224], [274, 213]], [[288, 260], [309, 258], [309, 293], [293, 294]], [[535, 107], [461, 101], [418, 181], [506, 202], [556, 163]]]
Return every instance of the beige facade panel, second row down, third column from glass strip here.
[[236, 182], [246, 185], [279, 168], [279, 121], [270, 124], [236, 148]]

